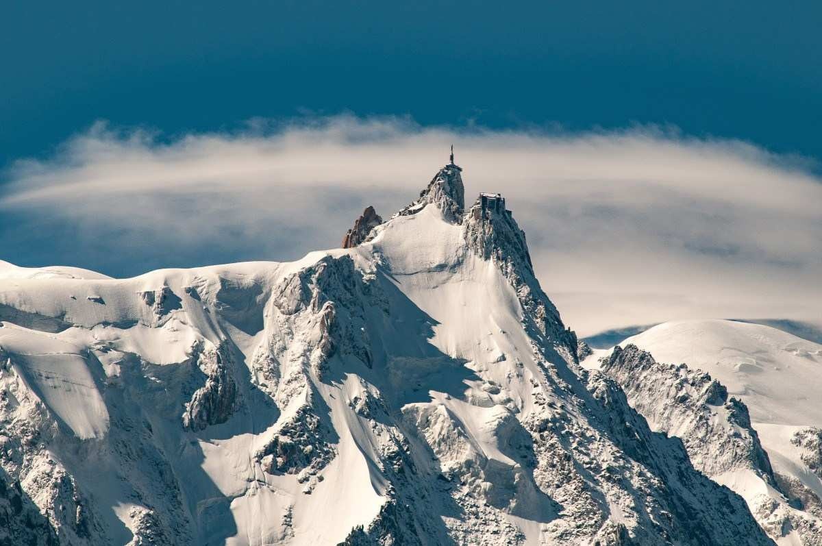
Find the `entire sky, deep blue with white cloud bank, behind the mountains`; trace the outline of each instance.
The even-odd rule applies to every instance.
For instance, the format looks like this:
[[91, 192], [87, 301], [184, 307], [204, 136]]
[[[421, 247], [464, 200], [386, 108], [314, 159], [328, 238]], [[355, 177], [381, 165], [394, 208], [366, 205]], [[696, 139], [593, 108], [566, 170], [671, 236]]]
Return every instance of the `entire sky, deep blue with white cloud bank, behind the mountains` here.
[[509, 196], [582, 333], [818, 318], [819, 21], [818, 2], [5, 2], [0, 260], [294, 259], [406, 204], [454, 141], [466, 195]]

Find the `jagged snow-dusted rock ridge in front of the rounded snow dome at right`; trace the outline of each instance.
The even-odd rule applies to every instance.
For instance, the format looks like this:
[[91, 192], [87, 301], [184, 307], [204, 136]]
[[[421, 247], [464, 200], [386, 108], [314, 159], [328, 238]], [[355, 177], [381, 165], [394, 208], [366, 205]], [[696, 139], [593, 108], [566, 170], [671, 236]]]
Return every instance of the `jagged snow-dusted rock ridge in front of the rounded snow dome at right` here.
[[[622, 387], [653, 430], [681, 439], [697, 470], [738, 489], [772, 539], [791, 540], [793, 534], [801, 544], [822, 544], [818, 498], [774, 474], [747, 406], [728, 396], [722, 383], [684, 363], [658, 363], [635, 345], [614, 348], [600, 370]], [[797, 433], [793, 442], [813, 453], [814, 442], [803, 442], [806, 437], [812, 435]]]

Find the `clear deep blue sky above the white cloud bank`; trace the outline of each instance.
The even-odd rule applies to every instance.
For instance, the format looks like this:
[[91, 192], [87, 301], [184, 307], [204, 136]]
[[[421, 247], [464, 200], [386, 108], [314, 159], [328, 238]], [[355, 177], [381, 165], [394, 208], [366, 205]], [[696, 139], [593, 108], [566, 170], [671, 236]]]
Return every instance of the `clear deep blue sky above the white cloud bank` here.
[[819, 2], [3, 2], [0, 165], [97, 119], [671, 124], [822, 158]]

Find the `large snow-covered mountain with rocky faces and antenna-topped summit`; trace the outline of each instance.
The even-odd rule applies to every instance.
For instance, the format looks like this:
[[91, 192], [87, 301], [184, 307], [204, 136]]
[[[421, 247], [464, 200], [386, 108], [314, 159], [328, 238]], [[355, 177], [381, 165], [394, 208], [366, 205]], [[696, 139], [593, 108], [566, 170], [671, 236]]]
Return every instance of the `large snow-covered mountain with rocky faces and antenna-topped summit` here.
[[447, 165], [287, 264], [3, 263], [0, 517], [31, 525], [0, 542], [772, 544], [579, 367], [505, 201], [463, 192]]

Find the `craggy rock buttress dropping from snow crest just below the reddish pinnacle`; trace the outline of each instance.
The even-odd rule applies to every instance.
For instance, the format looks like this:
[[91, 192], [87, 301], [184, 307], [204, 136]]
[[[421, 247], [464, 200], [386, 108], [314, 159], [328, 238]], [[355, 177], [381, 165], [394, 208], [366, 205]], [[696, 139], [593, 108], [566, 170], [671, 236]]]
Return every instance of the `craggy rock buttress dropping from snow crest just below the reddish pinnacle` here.
[[349, 257], [323, 258], [289, 275], [275, 288], [270, 313], [278, 328], [255, 358], [261, 387], [291, 417], [280, 419], [256, 460], [270, 474], [298, 474], [311, 493], [321, 471], [336, 456], [339, 441], [329, 408], [313, 382], [328, 371], [332, 357], [355, 358], [370, 367], [364, 308], [382, 308], [371, 284]]

